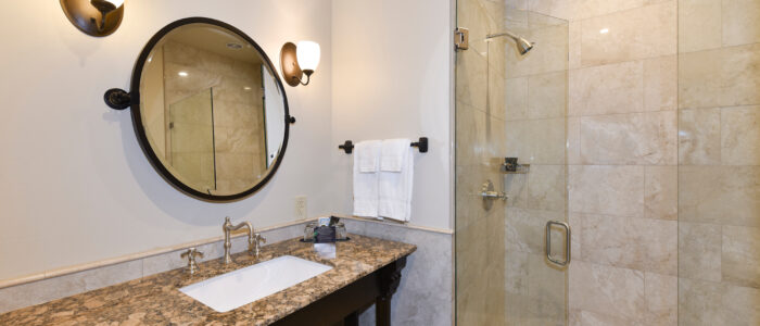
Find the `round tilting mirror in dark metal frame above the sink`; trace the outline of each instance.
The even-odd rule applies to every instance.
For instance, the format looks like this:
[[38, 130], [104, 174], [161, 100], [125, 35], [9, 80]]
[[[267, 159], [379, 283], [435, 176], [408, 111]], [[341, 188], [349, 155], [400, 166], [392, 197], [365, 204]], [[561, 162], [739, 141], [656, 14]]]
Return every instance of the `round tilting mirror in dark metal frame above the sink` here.
[[142, 50], [131, 89], [140, 146], [188, 195], [243, 198], [282, 161], [284, 88], [262, 48], [233, 26], [197, 17], [164, 27]]

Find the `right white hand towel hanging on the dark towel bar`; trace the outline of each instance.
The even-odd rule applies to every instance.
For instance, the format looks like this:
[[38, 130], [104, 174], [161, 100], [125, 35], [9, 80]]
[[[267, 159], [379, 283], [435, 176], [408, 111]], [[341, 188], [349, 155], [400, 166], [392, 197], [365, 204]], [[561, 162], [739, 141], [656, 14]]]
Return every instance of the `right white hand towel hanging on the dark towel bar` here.
[[[383, 159], [385, 152], [381, 153], [381, 171], [378, 177], [378, 192], [380, 201], [378, 202], [378, 215], [389, 217], [401, 222], [408, 222], [411, 216], [411, 189], [414, 181], [414, 152], [409, 147], [410, 141], [405, 139], [403, 143], [396, 143], [396, 140], [390, 140], [393, 145], [383, 146], [383, 150], [388, 149], [389, 159], [387, 163], [388, 170], [393, 168], [393, 161], [401, 158], [401, 168], [398, 171], [383, 171]], [[383, 141], [384, 145], [385, 141]], [[402, 149], [403, 148], [403, 149]], [[396, 150], [398, 152], [396, 152]]]

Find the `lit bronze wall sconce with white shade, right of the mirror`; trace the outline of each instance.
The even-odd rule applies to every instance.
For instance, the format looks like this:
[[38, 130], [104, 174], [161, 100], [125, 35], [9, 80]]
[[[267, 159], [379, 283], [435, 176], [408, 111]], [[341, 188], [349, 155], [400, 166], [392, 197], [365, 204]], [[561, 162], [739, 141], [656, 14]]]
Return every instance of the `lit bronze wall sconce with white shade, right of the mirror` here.
[[[280, 50], [280, 66], [286, 83], [290, 86], [308, 85], [312, 74], [319, 65], [319, 45], [313, 41], [300, 41], [296, 47], [287, 42]], [[306, 82], [303, 82], [306, 75]]]

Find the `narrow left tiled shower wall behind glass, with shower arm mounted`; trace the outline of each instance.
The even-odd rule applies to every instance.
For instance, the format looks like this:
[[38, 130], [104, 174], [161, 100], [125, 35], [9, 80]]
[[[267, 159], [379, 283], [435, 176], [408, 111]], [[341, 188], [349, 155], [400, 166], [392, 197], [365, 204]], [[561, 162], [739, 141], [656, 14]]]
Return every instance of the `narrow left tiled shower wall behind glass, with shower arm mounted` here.
[[[456, 73], [456, 319], [457, 325], [505, 323], [504, 205], [483, 206], [490, 179], [502, 188], [497, 158], [505, 146], [505, 53], [485, 35], [504, 26], [504, 2], [459, 0], [457, 17], [470, 30], [470, 49]], [[464, 13], [464, 15], [463, 15]]]

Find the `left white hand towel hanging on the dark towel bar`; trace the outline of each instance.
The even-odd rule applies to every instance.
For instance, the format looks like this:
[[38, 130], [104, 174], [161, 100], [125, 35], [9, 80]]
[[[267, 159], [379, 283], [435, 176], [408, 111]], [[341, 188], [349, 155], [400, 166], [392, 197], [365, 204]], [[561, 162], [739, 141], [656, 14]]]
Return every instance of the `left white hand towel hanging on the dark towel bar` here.
[[[378, 217], [378, 164], [380, 140], [359, 141], [354, 147], [354, 215]], [[373, 158], [372, 163], [370, 158]], [[362, 166], [375, 166], [362, 172]]]

